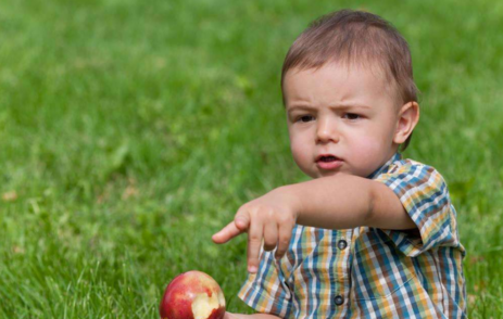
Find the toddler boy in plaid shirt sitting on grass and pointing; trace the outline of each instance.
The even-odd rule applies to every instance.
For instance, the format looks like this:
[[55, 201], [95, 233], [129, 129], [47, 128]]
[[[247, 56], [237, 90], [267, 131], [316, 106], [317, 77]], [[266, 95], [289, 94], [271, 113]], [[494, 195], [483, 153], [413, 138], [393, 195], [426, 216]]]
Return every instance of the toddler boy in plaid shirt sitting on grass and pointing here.
[[464, 248], [448, 188], [402, 158], [419, 119], [406, 41], [359, 11], [322, 17], [282, 68], [291, 152], [313, 179], [242, 205], [213, 235], [248, 232], [227, 318], [465, 318]]

